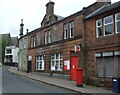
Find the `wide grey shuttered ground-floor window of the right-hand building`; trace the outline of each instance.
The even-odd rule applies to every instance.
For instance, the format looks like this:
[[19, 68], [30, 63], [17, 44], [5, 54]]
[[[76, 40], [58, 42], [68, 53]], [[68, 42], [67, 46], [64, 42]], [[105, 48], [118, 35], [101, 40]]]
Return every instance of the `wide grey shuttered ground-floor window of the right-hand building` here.
[[117, 73], [119, 73], [119, 70], [116, 69], [116, 67], [119, 67], [117, 59], [119, 54], [117, 55], [117, 53], [103, 52], [95, 54], [98, 77], [116, 77]]

